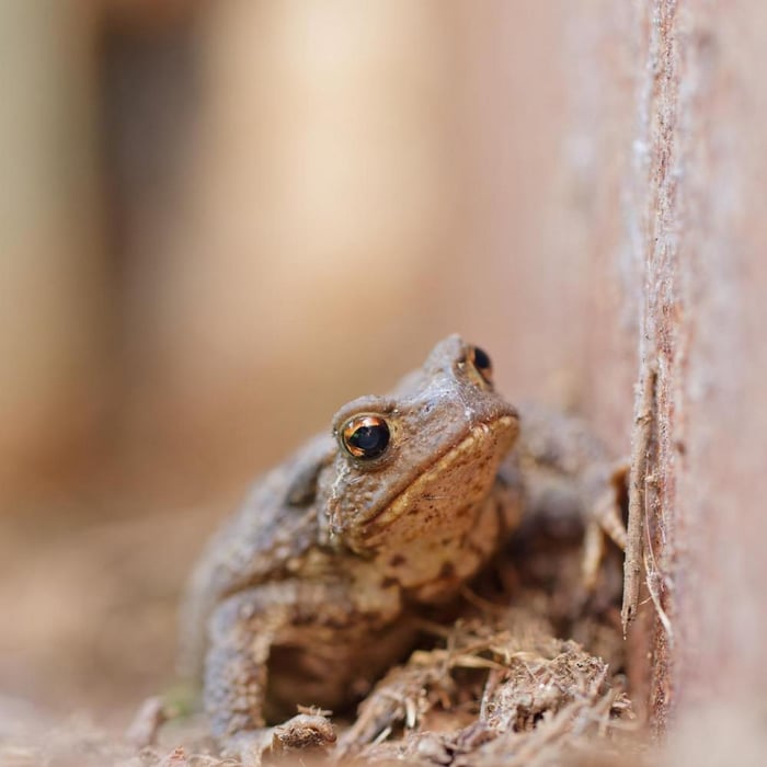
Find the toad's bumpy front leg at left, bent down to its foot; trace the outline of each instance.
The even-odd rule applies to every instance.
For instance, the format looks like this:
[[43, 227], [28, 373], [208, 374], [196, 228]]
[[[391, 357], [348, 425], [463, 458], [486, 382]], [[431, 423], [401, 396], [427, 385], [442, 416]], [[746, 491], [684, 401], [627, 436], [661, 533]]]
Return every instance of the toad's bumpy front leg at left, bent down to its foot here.
[[255, 766], [270, 749], [324, 746], [335, 733], [322, 716], [298, 714], [265, 726], [264, 707], [272, 649], [298, 615], [300, 584], [245, 589], [222, 602], [209, 623], [204, 702], [210, 729], [225, 753]]

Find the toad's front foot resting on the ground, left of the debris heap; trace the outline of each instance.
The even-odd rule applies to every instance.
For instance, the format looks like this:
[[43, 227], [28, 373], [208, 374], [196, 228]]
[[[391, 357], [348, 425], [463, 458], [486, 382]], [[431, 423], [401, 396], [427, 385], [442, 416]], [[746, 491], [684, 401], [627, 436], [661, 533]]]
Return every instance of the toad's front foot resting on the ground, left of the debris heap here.
[[244, 767], [261, 767], [267, 754], [324, 748], [335, 743], [335, 730], [325, 717], [299, 713], [273, 728], [243, 731], [226, 740], [225, 756], [239, 757]]

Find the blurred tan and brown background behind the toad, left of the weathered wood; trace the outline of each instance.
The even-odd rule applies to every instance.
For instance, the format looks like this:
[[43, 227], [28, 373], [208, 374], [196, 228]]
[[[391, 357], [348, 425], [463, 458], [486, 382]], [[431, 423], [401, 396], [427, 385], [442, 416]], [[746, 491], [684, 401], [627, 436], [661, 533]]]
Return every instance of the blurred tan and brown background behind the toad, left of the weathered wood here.
[[627, 450], [631, 19], [585, 5], [0, 3], [1, 694], [124, 723], [248, 483], [447, 333]]

